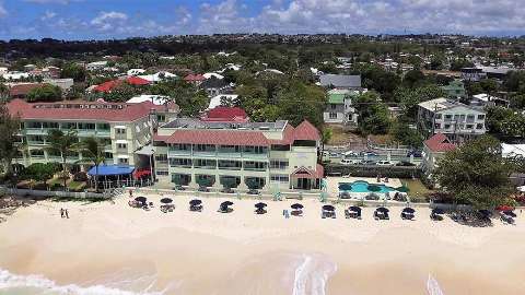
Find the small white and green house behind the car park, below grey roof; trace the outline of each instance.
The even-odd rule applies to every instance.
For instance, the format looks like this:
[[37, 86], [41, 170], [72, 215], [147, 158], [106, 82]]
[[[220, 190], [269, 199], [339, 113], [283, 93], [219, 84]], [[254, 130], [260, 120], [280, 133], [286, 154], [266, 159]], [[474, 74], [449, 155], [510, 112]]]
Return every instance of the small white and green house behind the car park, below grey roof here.
[[327, 123], [357, 125], [358, 114], [352, 107], [352, 99], [359, 95], [352, 90], [328, 91], [328, 105], [323, 113], [323, 119]]

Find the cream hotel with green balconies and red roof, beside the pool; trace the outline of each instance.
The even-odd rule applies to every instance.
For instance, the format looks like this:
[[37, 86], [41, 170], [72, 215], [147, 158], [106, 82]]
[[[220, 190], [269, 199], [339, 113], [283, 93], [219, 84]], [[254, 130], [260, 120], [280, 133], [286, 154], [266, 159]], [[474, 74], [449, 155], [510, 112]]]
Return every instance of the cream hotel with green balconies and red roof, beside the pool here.
[[153, 138], [156, 178], [202, 190], [320, 188], [319, 131], [308, 121], [221, 122], [178, 118]]

